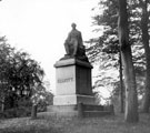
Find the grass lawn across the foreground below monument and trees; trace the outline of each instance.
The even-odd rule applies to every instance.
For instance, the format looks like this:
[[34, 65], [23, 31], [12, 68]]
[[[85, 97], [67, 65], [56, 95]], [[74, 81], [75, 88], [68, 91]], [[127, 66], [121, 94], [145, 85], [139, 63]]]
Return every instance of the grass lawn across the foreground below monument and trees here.
[[103, 117], [56, 117], [47, 113], [30, 117], [0, 121], [0, 133], [149, 133], [150, 115], [140, 114], [140, 122], [129, 124], [123, 115]]

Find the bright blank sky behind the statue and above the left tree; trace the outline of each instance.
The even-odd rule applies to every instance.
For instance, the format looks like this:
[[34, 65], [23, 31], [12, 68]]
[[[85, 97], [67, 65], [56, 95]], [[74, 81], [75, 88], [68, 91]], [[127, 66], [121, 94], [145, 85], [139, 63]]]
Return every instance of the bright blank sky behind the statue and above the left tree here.
[[63, 42], [77, 23], [83, 40], [91, 31], [91, 9], [99, 0], [2, 0], [0, 2], [0, 35], [10, 44], [23, 49], [41, 62], [47, 79], [54, 88], [53, 64], [64, 54]]

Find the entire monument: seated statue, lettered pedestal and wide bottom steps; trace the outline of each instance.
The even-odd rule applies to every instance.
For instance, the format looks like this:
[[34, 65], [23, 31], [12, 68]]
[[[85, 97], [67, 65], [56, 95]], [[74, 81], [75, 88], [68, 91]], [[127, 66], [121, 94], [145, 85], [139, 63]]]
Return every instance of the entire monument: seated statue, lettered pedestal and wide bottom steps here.
[[[66, 54], [56, 62], [56, 95], [48, 111], [57, 115], [98, 116], [111, 113], [97, 105], [91, 88], [91, 70], [81, 32], [72, 30], [64, 41]], [[83, 111], [83, 112], [82, 112]]]

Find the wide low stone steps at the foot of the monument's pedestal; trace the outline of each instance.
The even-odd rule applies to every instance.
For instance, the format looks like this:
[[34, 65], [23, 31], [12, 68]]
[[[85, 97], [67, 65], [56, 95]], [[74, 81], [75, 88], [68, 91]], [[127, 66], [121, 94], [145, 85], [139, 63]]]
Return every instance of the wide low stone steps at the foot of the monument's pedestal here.
[[[78, 109], [79, 108], [79, 109]], [[80, 116], [80, 113], [83, 117], [97, 117], [104, 115], [112, 115], [113, 111], [110, 110], [110, 106], [106, 108], [103, 105], [86, 105], [86, 104], [72, 104], [72, 105], [50, 105], [47, 108], [47, 111], [57, 116]]]

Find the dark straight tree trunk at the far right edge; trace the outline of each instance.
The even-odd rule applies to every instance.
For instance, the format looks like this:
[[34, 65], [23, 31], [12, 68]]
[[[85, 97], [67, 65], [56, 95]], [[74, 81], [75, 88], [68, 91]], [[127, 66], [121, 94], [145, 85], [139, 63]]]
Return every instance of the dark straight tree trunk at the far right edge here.
[[142, 104], [142, 112], [148, 113], [150, 108], [150, 47], [149, 47], [149, 31], [148, 31], [148, 0], [142, 4], [142, 18], [141, 18], [141, 30], [142, 30], [142, 42], [146, 54], [146, 86], [144, 96]]

